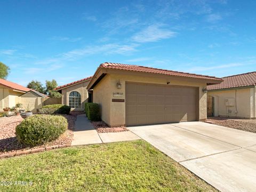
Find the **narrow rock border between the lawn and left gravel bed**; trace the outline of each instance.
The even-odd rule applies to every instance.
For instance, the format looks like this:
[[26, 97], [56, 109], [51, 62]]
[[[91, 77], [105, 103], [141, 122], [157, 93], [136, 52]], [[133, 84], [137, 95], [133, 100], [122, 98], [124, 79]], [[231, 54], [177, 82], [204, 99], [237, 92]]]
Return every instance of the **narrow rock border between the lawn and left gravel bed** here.
[[39, 153], [39, 152], [43, 152], [43, 151], [48, 151], [48, 150], [53, 150], [53, 149], [58, 149], [58, 148], [65, 148], [65, 147], [70, 147], [70, 145], [47, 146], [47, 147], [41, 147], [41, 148], [36, 148], [36, 149], [15, 151], [15, 152], [11, 152], [11, 153], [1, 154], [0, 159], [19, 156], [19, 155], [35, 154], [35, 153]]

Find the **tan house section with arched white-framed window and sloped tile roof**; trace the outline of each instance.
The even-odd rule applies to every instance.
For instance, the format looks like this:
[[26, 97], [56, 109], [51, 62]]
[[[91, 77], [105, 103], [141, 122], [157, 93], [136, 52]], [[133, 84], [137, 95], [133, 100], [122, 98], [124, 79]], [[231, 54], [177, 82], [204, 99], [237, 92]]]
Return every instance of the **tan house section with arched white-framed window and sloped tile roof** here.
[[[91, 92], [86, 87], [92, 77], [58, 86], [55, 90], [62, 95], [62, 104], [71, 107], [71, 110], [84, 110], [84, 103], [91, 100]], [[90, 101], [91, 102], [91, 101]]]

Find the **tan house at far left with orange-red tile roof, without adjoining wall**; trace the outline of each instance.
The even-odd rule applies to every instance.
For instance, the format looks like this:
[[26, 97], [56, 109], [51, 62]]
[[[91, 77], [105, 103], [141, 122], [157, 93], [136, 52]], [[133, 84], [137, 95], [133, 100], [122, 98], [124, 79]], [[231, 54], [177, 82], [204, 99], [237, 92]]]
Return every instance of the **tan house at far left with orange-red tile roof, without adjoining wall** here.
[[27, 87], [0, 78], [0, 110], [15, 107], [20, 102], [19, 96], [30, 91]]

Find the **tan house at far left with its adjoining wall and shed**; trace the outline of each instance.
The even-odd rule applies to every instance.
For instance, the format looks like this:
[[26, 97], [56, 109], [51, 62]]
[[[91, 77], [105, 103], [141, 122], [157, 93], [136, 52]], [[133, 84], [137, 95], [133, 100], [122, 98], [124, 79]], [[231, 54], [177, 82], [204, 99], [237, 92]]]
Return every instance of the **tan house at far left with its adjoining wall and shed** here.
[[37, 109], [41, 108], [47, 99], [49, 99], [47, 95], [0, 78], [0, 111], [21, 103], [22, 109], [37, 113]]

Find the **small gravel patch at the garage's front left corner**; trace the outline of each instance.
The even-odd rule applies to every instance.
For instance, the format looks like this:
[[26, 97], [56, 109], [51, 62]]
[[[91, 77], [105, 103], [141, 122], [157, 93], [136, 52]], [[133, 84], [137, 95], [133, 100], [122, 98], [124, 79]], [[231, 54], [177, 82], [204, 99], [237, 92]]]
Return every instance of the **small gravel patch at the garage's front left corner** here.
[[109, 127], [105, 122], [91, 122], [94, 129], [97, 130], [98, 133], [111, 133], [111, 132], [122, 132], [129, 131], [125, 126], [116, 126]]

